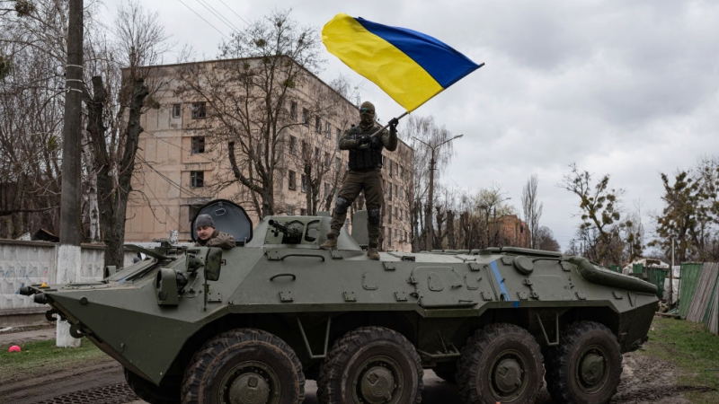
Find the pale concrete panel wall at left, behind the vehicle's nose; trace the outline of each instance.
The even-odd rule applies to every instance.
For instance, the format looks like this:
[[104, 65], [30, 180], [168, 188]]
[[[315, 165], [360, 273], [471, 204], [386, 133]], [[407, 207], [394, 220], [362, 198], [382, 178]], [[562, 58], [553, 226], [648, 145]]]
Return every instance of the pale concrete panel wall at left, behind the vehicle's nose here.
[[[101, 280], [104, 246], [84, 244], [81, 250], [82, 267], [77, 282]], [[126, 263], [131, 263], [135, 255], [126, 253]], [[55, 284], [57, 256], [57, 243], [0, 240], [0, 327], [45, 321], [48, 306], [33, 303], [18, 291], [24, 285]]]

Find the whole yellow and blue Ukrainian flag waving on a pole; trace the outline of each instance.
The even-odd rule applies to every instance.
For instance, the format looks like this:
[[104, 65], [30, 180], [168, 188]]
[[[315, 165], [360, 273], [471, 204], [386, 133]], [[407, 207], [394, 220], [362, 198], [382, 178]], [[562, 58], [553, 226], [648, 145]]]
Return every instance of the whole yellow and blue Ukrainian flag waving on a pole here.
[[344, 13], [324, 24], [322, 41], [330, 53], [376, 83], [407, 112], [482, 66], [421, 32]]

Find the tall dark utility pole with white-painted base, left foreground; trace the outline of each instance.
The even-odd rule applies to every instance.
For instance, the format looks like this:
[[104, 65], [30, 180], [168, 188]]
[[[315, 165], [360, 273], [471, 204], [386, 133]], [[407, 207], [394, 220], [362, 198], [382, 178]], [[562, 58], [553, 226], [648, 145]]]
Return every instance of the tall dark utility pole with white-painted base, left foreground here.
[[[67, 65], [65, 68], [65, 126], [62, 128], [62, 196], [60, 197], [60, 246], [58, 284], [75, 282], [82, 266], [80, 250], [80, 130], [83, 101], [83, 0], [69, 1]], [[58, 319], [58, 347], [79, 347], [69, 334], [67, 321]]]

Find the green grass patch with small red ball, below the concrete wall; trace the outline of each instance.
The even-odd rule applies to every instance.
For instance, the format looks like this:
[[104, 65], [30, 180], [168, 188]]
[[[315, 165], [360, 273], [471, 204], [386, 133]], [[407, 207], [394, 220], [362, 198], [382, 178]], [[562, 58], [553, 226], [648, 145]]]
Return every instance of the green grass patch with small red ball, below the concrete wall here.
[[7, 347], [0, 352], [0, 383], [110, 358], [87, 338], [76, 348], [57, 347], [54, 339], [28, 342], [21, 348], [22, 352], [7, 352]]

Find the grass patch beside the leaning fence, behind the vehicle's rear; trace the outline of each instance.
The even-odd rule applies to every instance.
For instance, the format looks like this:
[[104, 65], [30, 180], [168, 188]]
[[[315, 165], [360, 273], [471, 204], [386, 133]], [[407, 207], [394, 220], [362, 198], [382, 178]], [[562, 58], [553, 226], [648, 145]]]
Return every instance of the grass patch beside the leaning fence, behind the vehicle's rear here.
[[[719, 390], [719, 336], [705, 329], [704, 324], [655, 317], [644, 347], [645, 351], [637, 353], [676, 364], [678, 384]], [[719, 391], [688, 392], [684, 396], [692, 403], [719, 402]]]

